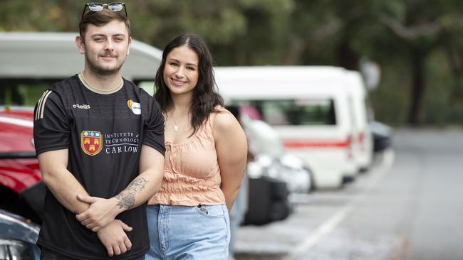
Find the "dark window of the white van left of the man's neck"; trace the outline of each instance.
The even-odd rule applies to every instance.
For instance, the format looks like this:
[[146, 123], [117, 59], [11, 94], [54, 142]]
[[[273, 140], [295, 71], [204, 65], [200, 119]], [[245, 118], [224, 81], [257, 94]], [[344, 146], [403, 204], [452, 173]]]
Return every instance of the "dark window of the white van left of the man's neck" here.
[[0, 79], [0, 105], [33, 107], [43, 92], [58, 80]]

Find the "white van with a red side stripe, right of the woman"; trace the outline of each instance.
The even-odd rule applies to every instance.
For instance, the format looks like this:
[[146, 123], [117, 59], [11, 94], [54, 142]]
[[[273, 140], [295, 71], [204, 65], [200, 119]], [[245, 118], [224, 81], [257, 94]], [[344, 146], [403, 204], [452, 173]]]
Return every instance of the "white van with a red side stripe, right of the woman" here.
[[347, 70], [328, 66], [216, 67], [219, 92], [249, 104], [285, 148], [313, 171], [316, 188], [338, 188], [358, 172]]

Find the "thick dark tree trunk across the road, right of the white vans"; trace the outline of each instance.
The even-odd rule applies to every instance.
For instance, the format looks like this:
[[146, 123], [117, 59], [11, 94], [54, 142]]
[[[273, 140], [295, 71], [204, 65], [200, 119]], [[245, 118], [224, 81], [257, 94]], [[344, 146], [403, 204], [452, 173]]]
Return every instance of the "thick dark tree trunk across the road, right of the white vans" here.
[[420, 126], [423, 120], [423, 99], [425, 97], [425, 53], [412, 47], [412, 90], [410, 95], [410, 112], [408, 123]]

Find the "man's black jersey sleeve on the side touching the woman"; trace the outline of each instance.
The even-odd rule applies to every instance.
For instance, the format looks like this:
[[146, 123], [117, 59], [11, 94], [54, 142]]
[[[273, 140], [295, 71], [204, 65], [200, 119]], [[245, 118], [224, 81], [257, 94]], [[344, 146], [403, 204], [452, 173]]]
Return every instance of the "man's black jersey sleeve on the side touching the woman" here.
[[159, 104], [154, 99], [149, 117], [146, 120], [143, 136], [143, 144], [155, 148], [162, 156], [165, 156], [164, 117]]

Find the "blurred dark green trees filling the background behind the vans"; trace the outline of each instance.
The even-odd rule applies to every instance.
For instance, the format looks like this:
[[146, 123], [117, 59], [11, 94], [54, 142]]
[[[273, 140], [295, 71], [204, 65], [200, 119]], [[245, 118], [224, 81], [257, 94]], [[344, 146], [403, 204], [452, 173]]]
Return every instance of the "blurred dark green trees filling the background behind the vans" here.
[[[76, 0], [3, 0], [0, 31], [78, 31]], [[376, 118], [407, 124], [420, 53], [425, 124], [463, 119], [463, 1], [132, 0], [132, 37], [162, 48], [197, 33], [217, 65], [341, 65], [382, 69]], [[420, 66], [418, 66], [420, 67]]]

